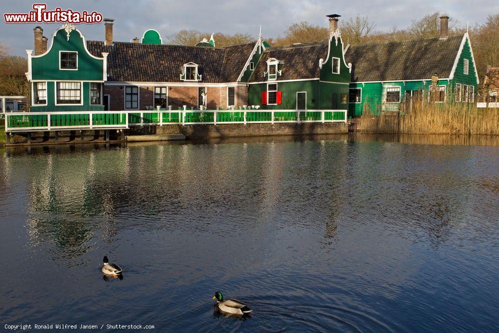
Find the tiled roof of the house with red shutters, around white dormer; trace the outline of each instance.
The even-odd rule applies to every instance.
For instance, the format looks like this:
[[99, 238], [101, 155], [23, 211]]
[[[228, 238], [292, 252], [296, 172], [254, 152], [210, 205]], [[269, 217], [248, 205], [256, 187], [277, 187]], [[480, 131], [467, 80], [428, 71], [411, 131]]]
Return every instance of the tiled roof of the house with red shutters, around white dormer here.
[[256, 65], [250, 82], [266, 81], [263, 75], [267, 71], [266, 61], [275, 58], [284, 64], [281, 68], [280, 80], [296, 80], [319, 77], [319, 59], [327, 56], [328, 44], [325, 42], [307, 43], [289, 46], [269, 47]]

